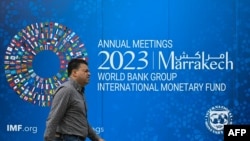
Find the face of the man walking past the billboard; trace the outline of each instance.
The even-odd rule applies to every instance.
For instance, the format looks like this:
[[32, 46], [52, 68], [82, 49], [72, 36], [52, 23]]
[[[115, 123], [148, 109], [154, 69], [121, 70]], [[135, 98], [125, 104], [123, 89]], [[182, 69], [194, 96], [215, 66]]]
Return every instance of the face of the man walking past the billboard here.
[[89, 83], [90, 72], [88, 66], [85, 64], [80, 64], [79, 68], [74, 71], [76, 81], [85, 86]]

